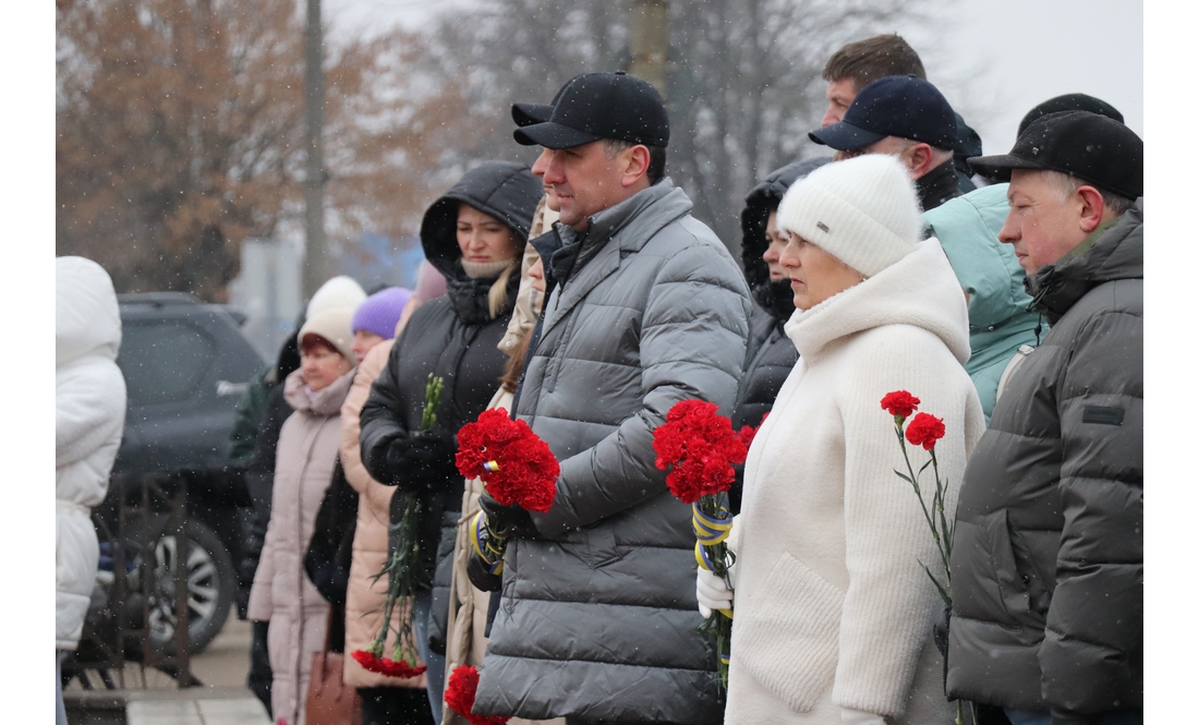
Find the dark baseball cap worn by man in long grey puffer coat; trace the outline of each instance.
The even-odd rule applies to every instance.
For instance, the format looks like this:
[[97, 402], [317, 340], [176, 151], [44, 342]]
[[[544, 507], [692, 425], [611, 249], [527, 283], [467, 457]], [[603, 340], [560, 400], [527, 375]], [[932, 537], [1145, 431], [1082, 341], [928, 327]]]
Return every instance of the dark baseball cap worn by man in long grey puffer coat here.
[[519, 126], [512, 137], [518, 144], [572, 149], [613, 139], [664, 147], [670, 140], [662, 96], [645, 80], [622, 71], [576, 75], [558, 91], [548, 120], [522, 126], [522, 120], [535, 119], [544, 108], [512, 107], [512, 119]]

